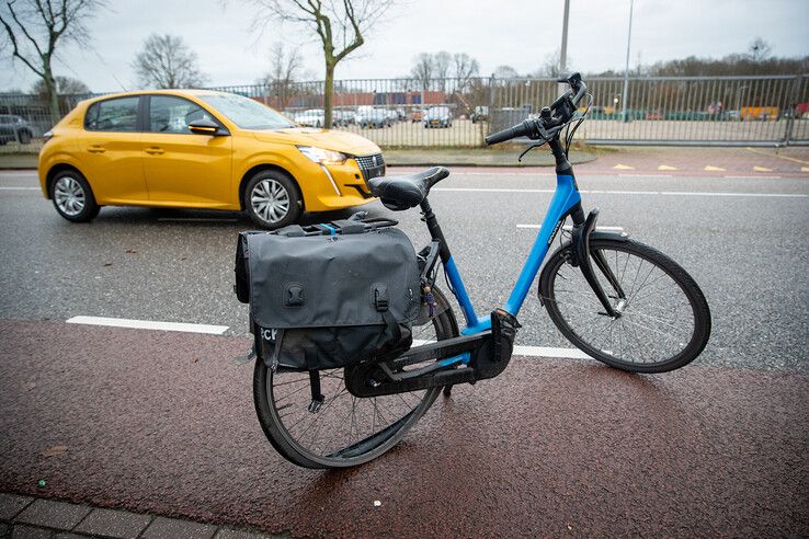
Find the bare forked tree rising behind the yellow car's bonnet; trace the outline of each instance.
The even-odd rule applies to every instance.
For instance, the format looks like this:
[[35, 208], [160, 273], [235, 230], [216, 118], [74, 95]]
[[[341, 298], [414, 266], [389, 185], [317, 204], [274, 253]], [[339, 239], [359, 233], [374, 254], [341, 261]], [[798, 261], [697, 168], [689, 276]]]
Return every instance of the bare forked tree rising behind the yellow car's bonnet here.
[[271, 19], [304, 24], [312, 30], [323, 48], [326, 78], [323, 112], [327, 128], [332, 126], [334, 68], [362, 47], [365, 34], [387, 11], [392, 0], [249, 0], [263, 8]]

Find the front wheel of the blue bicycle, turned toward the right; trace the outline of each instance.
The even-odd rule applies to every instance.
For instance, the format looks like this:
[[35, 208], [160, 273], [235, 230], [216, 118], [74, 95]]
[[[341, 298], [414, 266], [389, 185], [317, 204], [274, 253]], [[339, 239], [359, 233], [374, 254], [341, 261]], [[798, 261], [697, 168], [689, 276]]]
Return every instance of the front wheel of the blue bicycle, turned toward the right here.
[[[570, 244], [557, 250], [539, 277], [550, 319], [579, 349], [611, 367], [665, 372], [697, 357], [710, 336], [710, 311], [694, 279], [676, 262], [633, 240], [590, 241], [593, 271], [613, 309], [612, 318], [579, 267]], [[613, 286], [596, 257], [614, 275]]]

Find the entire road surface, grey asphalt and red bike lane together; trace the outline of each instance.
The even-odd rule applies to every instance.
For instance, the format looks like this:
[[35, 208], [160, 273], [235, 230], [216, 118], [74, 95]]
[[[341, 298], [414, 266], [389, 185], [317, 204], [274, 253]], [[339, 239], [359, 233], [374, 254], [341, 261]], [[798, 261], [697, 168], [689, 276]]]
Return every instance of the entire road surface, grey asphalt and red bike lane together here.
[[[517, 225], [540, 221], [554, 179], [457, 172], [431, 200], [486, 312], [509, 295], [536, 233]], [[704, 354], [659, 376], [515, 357], [440, 399], [383, 458], [320, 472], [273, 450], [251, 368], [232, 360], [250, 342], [232, 294], [247, 220], [104, 208], [71, 225], [33, 173], [0, 172], [0, 491], [294, 537], [806, 537], [807, 179], [579, 183], [602, 225], [702, 285], [714, 314]], [[415, 213], [394, 216], [426, 241]], [[64, 323], [77, 316], [229, 329]], [[520, 320], [517, 344], [570, 346], [536, 297]]]

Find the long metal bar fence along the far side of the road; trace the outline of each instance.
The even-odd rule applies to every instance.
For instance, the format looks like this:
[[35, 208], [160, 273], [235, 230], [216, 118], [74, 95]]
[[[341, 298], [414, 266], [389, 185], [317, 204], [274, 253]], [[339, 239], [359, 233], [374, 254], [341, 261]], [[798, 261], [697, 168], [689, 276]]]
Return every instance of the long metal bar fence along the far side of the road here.
[[[577, 138], [612, 145], [809, 145], [809, 76], [588, 78], [590, 118]], [[322, 125], [323, 83], [219, 87], [272, 106], [292, 119]], [[550, 79], [362, 79], [334, 83], [334, 128], [385, 148], [481, 147], [489, 133], [516, 124], [560, 91]], [[87, 95], [60, 96], [62, 113]], [[0, 95], [0, 115], [25, 119], [39, 136], [47, 103]], [[0, 151], [36, 150], [11, 141]]]

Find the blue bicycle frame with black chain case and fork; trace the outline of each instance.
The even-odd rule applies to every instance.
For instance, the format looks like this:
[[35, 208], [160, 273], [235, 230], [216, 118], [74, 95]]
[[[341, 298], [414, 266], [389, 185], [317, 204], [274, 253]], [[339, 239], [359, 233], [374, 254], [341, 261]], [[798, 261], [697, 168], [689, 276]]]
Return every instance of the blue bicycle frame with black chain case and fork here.
[[[554, 192], [536, 240], [534, 240], [534, 245], [528, 253], [528, 257], [505, 306], [501, 309], [495, 309], [491, 314], [485, 317], [480, 317], [475, 312], [469, 293], [464, 285], [464, 279], [444, 239], [435, 214], [428, 198], [424, 198], [420, 206], [423, 220], [432, 237], [431, 249], [434, 245], [438, 248], [438, 255], [444, 264], [447, 280], [464, 313], [466, 328], [460, 330], [460, 336], [458, 337], [410, 348], [404, 354], [392, 359], [390, 366], [381, 363], [380, 369], [384, 371], [384, 377], [390, 380], [392, 385], [384, 383], [377, 378], [374, 379], [374, 383], [371, 386], [365, 382], [366, 374], [376, 368], [374, 365], [367, 367], [361, 366], [350, 371], [346, 370], [346, 387], [352, 394], [356, 397], [374, 397], [403, 390], [412, 391], [429, 387], [452, 386], [454, 383], [474, 383], [480, 379], [493, 378], [502, 372], [511, 358], [516, 328], [520, 326], [516, 316], [528, 295], [528, 290], [539, 272], [543, 261], [548, 254], [550, 244], [554, 242], [556, 234], [568, 216], [572, 217], [573, 220], [572, 243], [574, 249], [570, 252], [571, 263], [579, 266], [584, 274], [596, 297], [602, 306], [604, 306], [604, 314], [613, 318], [620, 316], [613, 309], [611, 301], [607, 299], [606, 294], [604, 294], [599, 279], [593, 273], [590, 261], [592, 256], [599, 270], [615, 289], [617, 297], [623, 298], [624, 293], [617, 285], [617, 279], [612, 274], [612, 271], [600, 259], [599, 254], [590, 253], [589, 239], [594, 231], [599, 210], [593, 209], [586, 218], [584, 217], [584, 211], [581, 207], [581, 195], [576, 183], [573, 169], [568, 162], [559, 138], [549, 140], [548, 145], [556, 158], [556, 191]], [[613, 236], [608, 232], [596, 232], [596, 234], [599, 237]], [[425, 249], [423, 252], [433, 254], [431, 249]], [[434, 275], [431, 265], [435, 263], [435, 256], [429, 257], [432, 262], [429, 264], [425, 263], [422, 277]], [[492, 320], [494, 317], [497, 321]], [[406, 366], [430, 360], [435, 360], [435, 363], [415, 368], [411, 371], [402, 370]], [[449, 368], [460, 367], [462, 365], [463, 368]]]

